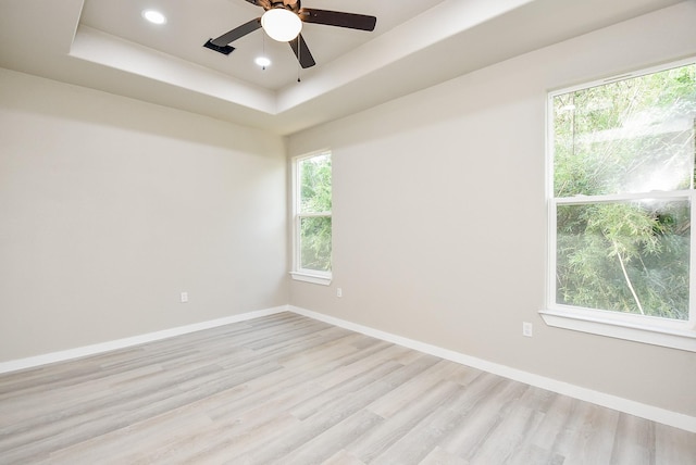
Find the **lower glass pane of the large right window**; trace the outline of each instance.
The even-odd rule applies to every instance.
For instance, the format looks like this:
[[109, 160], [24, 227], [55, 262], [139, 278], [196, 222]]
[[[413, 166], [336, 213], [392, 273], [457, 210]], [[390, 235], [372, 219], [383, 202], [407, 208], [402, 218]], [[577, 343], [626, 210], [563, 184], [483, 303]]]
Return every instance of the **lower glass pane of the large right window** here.
[[556, 301], [688, 319], [687, 200], [557, 208]]

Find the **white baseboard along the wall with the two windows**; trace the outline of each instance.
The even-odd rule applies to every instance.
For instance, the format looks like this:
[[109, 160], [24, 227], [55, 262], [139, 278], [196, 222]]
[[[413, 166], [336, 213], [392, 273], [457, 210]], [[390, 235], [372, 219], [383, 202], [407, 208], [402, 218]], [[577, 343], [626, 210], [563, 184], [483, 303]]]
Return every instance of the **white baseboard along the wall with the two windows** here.
[[334, 326], [339, 326], [341, 328], [349, 329], [351, 331], [361, 332], [363, 335], [382, 339], [387, 342], [393, 342], [395, 344], [403, 345], [409, 349], [413, 349], [431, 355], [439, 356], [440, 359], [449, 360], [451, 362], [460, 363], [462, 365], [471, 366], [473, 368], [478, 368], [484, 372], [502, 376], [508, 379], [524, 382], [526, 385], [534, 386], [537, 388], [546, 389], [547, 391], [557, 392], [559, 394], [568, 395], [574, 399], [580, 399], [582, 401], [591, 402], [591, 403], [601, 405], [608, 409], [612, 409], [619, 412], [627, 413], [630, 415], [635, 415], [641, 418], [646, 418], [652, 422], [661, 423], [663, 425], [673, 426], [675, 428], [684, 429], [686, 431], [696, 432], [696, 417], [693, 417], [693, 416], [668, 411], [664, 409], [656, 407], [654, 405], [644, 404], [644, 403], [632, 401], [629, 399], [623, 399], [617, 395], [607, 394], [605, 392], [582, 388], [580, 386], [547, 378], [544, 376], [534, 375], [529, 372], [523, 372], [521, 369], [515, 369], [509, 366], [488, 362], [483, 359], [477, 359], [477, 357], [465, 355], [448, 349], [443, 349], [437, 345], [432, 345], [425, 342], [408, 339], [390, 332], [385, 332], [378, 329], [374, 329], [369, 326], [362, 326], [356, 323], [347, 322], [345, 319], [340, 319], [340, 318], [324, 315], [318, 312], [313, 312], [311, 310], [301, 309], [294, 305], [289, 305], [288, 310], [290, 312], [297, 313], [298, 315], [303, 315], [313, 319], [328, 323]]

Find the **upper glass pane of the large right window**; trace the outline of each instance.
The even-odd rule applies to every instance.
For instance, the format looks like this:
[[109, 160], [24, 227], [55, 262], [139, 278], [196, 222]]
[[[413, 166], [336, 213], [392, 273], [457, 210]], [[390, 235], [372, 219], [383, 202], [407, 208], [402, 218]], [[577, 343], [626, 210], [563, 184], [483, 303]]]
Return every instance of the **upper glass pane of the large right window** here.
[[696, 64], [554, 98], [555, 197], [688, 189]]

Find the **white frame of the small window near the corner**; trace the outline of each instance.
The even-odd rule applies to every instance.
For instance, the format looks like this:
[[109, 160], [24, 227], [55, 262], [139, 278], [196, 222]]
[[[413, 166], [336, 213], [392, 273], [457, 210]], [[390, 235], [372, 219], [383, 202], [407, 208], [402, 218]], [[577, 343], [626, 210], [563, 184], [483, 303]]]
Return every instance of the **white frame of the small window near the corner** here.
[[[307, 153], [303, 155], [295, 156], [291, 160], [291, 176], [293, 176], [293, 271], [290, 276], [293, 279], [304, 282], [312, 282], [316, 285], [328, 286], [331, 285], [333, 273], [321, 272], [316, 269], [307, 269], [300, 267], [300, 224], [302, 218], [306, 217], [319, 217], [328, 216], [332, 217], [332, 212], [319, 212], [319, 213], [301, 213], [301, 186], [302, 179], [300, 179], [299, 163], [303, 160], [311, 159], [320, 155], [330, 155], [332, 152], [328, 149], [319, 150], [315, 152]], [[332, 160], [332, 178], [333, 178], [333, 160]], [[332, 198], [333, 198], [333, 181], [332, 181]], [[333, 210], [333, 209], [332, 209]], [[333, 227], [332, 227], [332, 242], [333, 242]], [[333, 247], [332, 247], [333, 250]]]

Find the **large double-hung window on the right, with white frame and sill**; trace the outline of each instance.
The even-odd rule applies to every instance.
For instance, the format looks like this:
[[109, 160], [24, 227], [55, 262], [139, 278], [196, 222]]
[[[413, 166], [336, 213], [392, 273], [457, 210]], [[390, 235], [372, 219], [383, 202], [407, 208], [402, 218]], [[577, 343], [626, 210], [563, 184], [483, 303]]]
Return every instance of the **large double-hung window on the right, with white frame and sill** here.
[[696, 351], [696, 64], [549, 95], [544, 319]]

